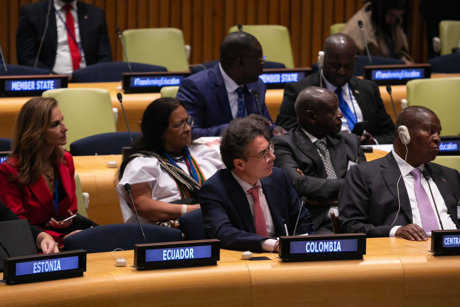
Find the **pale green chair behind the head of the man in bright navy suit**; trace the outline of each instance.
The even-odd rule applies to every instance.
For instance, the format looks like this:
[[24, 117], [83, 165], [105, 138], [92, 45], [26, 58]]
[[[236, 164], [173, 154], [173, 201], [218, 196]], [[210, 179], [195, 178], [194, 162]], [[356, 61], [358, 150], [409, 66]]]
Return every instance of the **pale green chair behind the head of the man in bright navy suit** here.
[[[242, 27], [244, 32], [257, 38], [268, 61], [283, 63], [286, 68], [294, 67], [288, 28], [282, 25], [243, 25]], [[229, 29], [229, 33], [236, 31], [238, 31], [237, 26]]]

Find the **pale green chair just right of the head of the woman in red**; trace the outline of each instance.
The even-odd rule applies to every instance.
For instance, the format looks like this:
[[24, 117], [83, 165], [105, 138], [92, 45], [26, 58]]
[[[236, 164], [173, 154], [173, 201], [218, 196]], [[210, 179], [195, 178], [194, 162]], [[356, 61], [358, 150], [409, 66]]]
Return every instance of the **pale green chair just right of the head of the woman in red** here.
[[115, 132], [109, 91], [105, 89], [50, 89], [42, 94], [57, 100], [67, 131], [66, 148], [86, 136]]

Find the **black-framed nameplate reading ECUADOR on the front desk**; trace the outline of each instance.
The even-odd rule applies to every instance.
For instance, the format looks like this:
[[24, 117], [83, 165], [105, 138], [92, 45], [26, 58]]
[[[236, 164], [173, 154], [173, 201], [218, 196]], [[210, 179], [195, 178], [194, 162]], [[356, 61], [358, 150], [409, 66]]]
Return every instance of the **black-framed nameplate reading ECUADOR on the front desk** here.
[[139, 271], [215, 266], [218, 260], [220, 241], [215, 239], [134, 246], [134, 266]]

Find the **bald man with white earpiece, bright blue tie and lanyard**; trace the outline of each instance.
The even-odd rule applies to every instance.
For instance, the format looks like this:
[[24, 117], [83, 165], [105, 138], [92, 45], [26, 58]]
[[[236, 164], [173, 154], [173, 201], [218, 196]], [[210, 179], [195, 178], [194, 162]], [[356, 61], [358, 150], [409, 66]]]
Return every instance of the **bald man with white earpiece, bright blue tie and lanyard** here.
[[[353, 76], [356, 44], [350, 36], [337, 33], [324, 43], [324, 65], [299, 82], [288, 83], [276, 124], [289, 130], [298, 125], [294, 103], [299, 93], [309, 86], [322, 86], [337, 94], [339, 109], [344, 114], [342, 130], [352, 131], [357, 122], [368, 121], [361, 144], [391, 144], [395, 125], [385, 111], [377, 84]], [[322, 78], [322, 82], [320, 81]]]

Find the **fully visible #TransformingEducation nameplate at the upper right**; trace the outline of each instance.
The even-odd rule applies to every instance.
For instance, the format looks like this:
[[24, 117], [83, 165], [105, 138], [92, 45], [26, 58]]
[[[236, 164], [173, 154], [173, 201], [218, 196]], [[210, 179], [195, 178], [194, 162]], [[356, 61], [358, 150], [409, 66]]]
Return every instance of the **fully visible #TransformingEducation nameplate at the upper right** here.
[[366, 65], [363, 77], [378, 85], [403, 85], [409, 80], [430, 78], [431, 64]]

